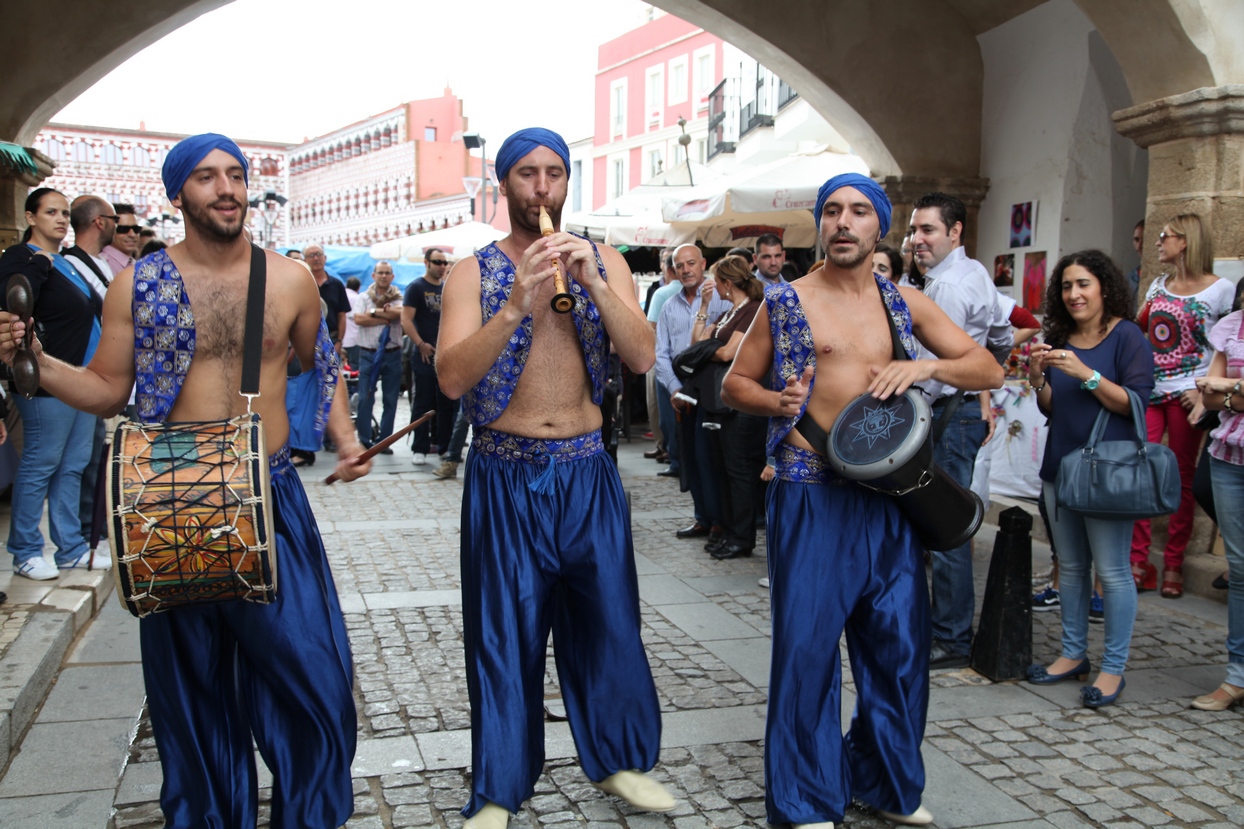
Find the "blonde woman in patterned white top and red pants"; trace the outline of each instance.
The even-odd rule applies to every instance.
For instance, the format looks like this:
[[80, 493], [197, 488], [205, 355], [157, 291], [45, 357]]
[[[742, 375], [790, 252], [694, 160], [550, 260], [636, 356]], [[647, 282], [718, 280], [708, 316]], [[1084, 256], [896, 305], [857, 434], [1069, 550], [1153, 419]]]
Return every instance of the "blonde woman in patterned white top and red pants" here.
[[[1197, 377], [1209, 368], [1213, 347], [1209, 331], [1230, 312], [1234, 286], [1213, 274], [1214, 253], [1209, 230], [1195, 213], [1171, 219], [1158, 234], [1158, 261], [1168, 273], [1157, 278], [1144, 297], [1137, 320], [1153, 346], [1154, 386], [1147, 413], [1149, 441], [1168, 443], [1179, 462], [1183, 497], [1171, 517], [1163, 554], [1162, 595], [1183, 595], [1183, 553], [1192, 536], [1192, 478], [1200, 452], [1202, 433], [1188, 422], [1188, 412], [1200, 402]], [[1173, 271], [1173, 273], [1171, 273]], [[1132, 530], [1132, 578], [1137, 590], [1157, 586], [1149, 564], [1149, 519]]]

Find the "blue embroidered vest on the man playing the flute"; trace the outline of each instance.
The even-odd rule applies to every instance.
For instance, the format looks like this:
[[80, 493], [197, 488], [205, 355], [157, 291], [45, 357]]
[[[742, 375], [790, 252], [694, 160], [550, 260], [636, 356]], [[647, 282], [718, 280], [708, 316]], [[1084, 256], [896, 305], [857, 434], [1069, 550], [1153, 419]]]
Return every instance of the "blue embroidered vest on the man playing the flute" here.
[[[601, 261], [601, 251], [595, 243], [592, 250], [596, 251], [596, 266], [601, 271], [601, 279], [606, 279], [605, 263]], [[478, 250], [475, 259], [479, 260], [480, 310], [486, 325], [510, 299], [510, 291], [514, 290], [514, 263], [495, 244]], [[575, 296], [575, 310], [571, 311], [571, 316], [575, 319], [578, 340], [583, 346], [583, 360], [592, 382], [592, 402], [600, 405], [605, 397], [605, 375], [610, 358], [605, 349], [601, 312], [582, 285], [569, 275], [566, 281], [567, 289]], [[529, 314], [510, 335], [509, 342], [484, 378], [463, 395], [463, 411], [471, 423], [485, 426], [501, 416], [514, 397], [514, 388], [519, 385], [519, 377], [522, 376], [530, 354], [531, 315]]]

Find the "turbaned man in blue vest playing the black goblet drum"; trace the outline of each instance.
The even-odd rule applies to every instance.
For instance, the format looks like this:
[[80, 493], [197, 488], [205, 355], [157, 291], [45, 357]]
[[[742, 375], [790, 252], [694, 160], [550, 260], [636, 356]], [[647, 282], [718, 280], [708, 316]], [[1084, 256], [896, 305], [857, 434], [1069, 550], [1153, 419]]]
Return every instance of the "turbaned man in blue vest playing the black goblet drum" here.
[[[825, 266], [765, 291], [722, 390], [734, 408], [769, 416], [776, 457], [768, 818], [832, 827], [858, 798], [891, 820], [929, 823], [921, 805], [931, 641], [923, 550], [893, 498], [837, 477], [825, 446], [795, 424], [809, 417], [829, 431], [863, 393], [886, 400], [931, 378], [990, 388], [1003, 372], [933, 302], [872, 273], [891, 217], [872, 179], [831, 178], [815, 215]], [[891, 322], [908, 357], [918, 340], [939, 360], [896, 360]], [[843, 630], [857, 693], [846, 737], [836, 658]]]

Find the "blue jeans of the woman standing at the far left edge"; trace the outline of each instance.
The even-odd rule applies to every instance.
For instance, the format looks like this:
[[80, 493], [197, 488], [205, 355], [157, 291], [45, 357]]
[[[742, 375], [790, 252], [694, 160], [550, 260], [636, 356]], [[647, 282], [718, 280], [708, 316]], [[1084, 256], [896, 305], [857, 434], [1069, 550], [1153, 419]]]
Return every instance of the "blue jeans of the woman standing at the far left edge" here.
[[9, 551], [21, 564], [44, 554], [39, 522], [47, 502], [56, 564], [68, 565], [87, 550], [82, 536], [82, 471], [91, 461], [93, 415], [55, 397], [10, 397], [21, 412], [25, 447], [12, 482]]

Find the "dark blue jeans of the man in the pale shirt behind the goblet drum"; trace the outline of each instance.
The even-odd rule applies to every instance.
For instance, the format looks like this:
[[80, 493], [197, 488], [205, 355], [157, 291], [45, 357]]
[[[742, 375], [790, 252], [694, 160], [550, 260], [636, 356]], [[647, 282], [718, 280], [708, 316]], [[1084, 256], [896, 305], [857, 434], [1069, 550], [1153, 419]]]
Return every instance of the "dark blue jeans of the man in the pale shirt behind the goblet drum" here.
[[[933, 407], [933, 422], [944, 403]], [[964, 489], [972, 485], [977, 452], [989, 433], [975, 401], [964, 402], [950, 416], [942, 439], [933, 447], [933, 461]], [[955, 653], [972, 652], [972, 617], [977, 591], [972, 581], [972, 543], [944, 553], [933, 553], [933, 640]]]

